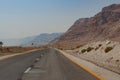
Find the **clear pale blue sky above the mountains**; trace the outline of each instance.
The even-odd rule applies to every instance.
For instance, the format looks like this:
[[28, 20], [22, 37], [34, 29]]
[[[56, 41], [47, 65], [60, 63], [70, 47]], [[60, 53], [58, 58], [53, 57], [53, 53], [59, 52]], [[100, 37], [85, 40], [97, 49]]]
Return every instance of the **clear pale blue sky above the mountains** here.
[[120, 0], [0, 0], [0, 39], [65, 32]]

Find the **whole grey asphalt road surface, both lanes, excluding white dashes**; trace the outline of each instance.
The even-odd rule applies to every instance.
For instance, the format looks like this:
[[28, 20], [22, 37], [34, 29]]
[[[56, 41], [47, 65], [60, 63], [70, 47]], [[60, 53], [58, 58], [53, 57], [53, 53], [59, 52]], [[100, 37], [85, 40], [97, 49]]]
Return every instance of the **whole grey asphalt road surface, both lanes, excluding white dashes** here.
[[[43, 55], [42, 57], [41, 54]], [[39, 57], [37, 63], [35, 59]], [[32, 64], [38, 66], [38, 74], [31, 76], [23, 72]], [[0, 61], [0, 80], [98, 80], [72, 63], [54, 49], [31, 52]]]

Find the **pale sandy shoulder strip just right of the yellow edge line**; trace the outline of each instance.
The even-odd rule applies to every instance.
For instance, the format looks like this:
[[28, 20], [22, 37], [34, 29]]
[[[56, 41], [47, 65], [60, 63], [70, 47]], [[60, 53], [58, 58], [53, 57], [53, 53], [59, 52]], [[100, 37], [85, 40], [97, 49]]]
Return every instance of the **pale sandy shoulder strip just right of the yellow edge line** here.
[[76, 61], [77, 63], [88, 68], [89, 70], [96, 73], [97, 75], [103, 77], [105, 80], [120, 80], [120, 75], [117, 73], [114, 73], [114, 72], [106, 70], [102, 67], [96, 66], [95, 64], [93, 64], [91, 62], [87, 62], [83, 59], [80, 59], [80, 58], [75, 57], [71, 54], [65, 53], [63, 51], [60, 51], [60, 52], [62, 52], [64, 55], [70, 57], [72, 60]]

